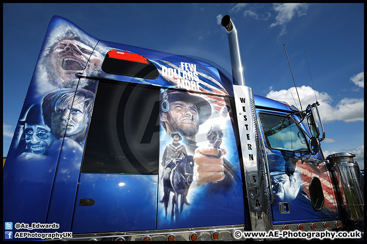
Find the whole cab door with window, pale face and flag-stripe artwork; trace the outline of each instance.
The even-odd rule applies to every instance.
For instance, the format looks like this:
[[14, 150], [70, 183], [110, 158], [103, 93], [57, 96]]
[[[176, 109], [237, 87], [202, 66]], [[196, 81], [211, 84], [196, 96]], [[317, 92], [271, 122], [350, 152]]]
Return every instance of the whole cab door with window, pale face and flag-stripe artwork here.
[[[281, 113], [259, 112], [273, 191], [274, 224], [337, 217], [331, 180], [321, 156], [309, 156], [300, 126]], [[302, 210], [300, 210], [302, 209]]]

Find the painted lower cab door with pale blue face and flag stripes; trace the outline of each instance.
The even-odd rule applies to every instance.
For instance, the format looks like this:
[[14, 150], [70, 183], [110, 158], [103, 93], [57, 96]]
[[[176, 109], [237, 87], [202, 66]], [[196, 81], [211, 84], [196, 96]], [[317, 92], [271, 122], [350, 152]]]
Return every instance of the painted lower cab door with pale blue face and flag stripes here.
[[[331, 175], [325, 162], [312, 164], [312, 159], [302, 162], [299, 154], [290, 151], [266, 150], [274, 196], [273, 221], [337, 217], [335, 192], [330, 184]], [[312, 207], [309, 189], [312, 180], [320, 180], [324, 201], [317, 203], [316, 209]], [[313, 193], [315, 191], [313, 189]], [[280, 206], [284, 206], [284, 209], [280, 210]]]

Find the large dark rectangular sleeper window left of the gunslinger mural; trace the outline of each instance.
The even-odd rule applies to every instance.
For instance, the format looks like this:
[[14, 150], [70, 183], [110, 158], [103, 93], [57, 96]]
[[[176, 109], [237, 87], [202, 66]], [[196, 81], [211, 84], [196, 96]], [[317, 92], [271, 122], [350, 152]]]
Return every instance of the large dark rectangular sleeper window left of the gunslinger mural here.
[[82, 172], [158, 174], [159, 87], [99, 81]]

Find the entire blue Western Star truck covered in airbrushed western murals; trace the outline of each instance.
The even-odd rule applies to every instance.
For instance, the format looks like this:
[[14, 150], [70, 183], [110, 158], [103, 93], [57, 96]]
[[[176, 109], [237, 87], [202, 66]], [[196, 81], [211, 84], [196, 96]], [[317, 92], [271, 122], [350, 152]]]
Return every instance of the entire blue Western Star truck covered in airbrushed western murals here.
[[235, 240], [363, 223], [355, 156], [323, 155], [318, 104], [253, 95], [237, 30], [228, 15], [222, 25], [232, 80], [54, 16], [3, 167], [3, 239]]

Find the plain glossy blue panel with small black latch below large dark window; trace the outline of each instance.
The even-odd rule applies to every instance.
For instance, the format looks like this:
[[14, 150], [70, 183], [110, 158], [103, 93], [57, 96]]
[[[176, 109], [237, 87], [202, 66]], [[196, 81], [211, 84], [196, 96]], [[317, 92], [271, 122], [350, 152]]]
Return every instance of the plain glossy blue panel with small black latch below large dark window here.
[[[157, 193], [157, 175], [82, 173], [72, 232], [153, 230]], [[80, 199], [95, 203], [79, 206]]]

